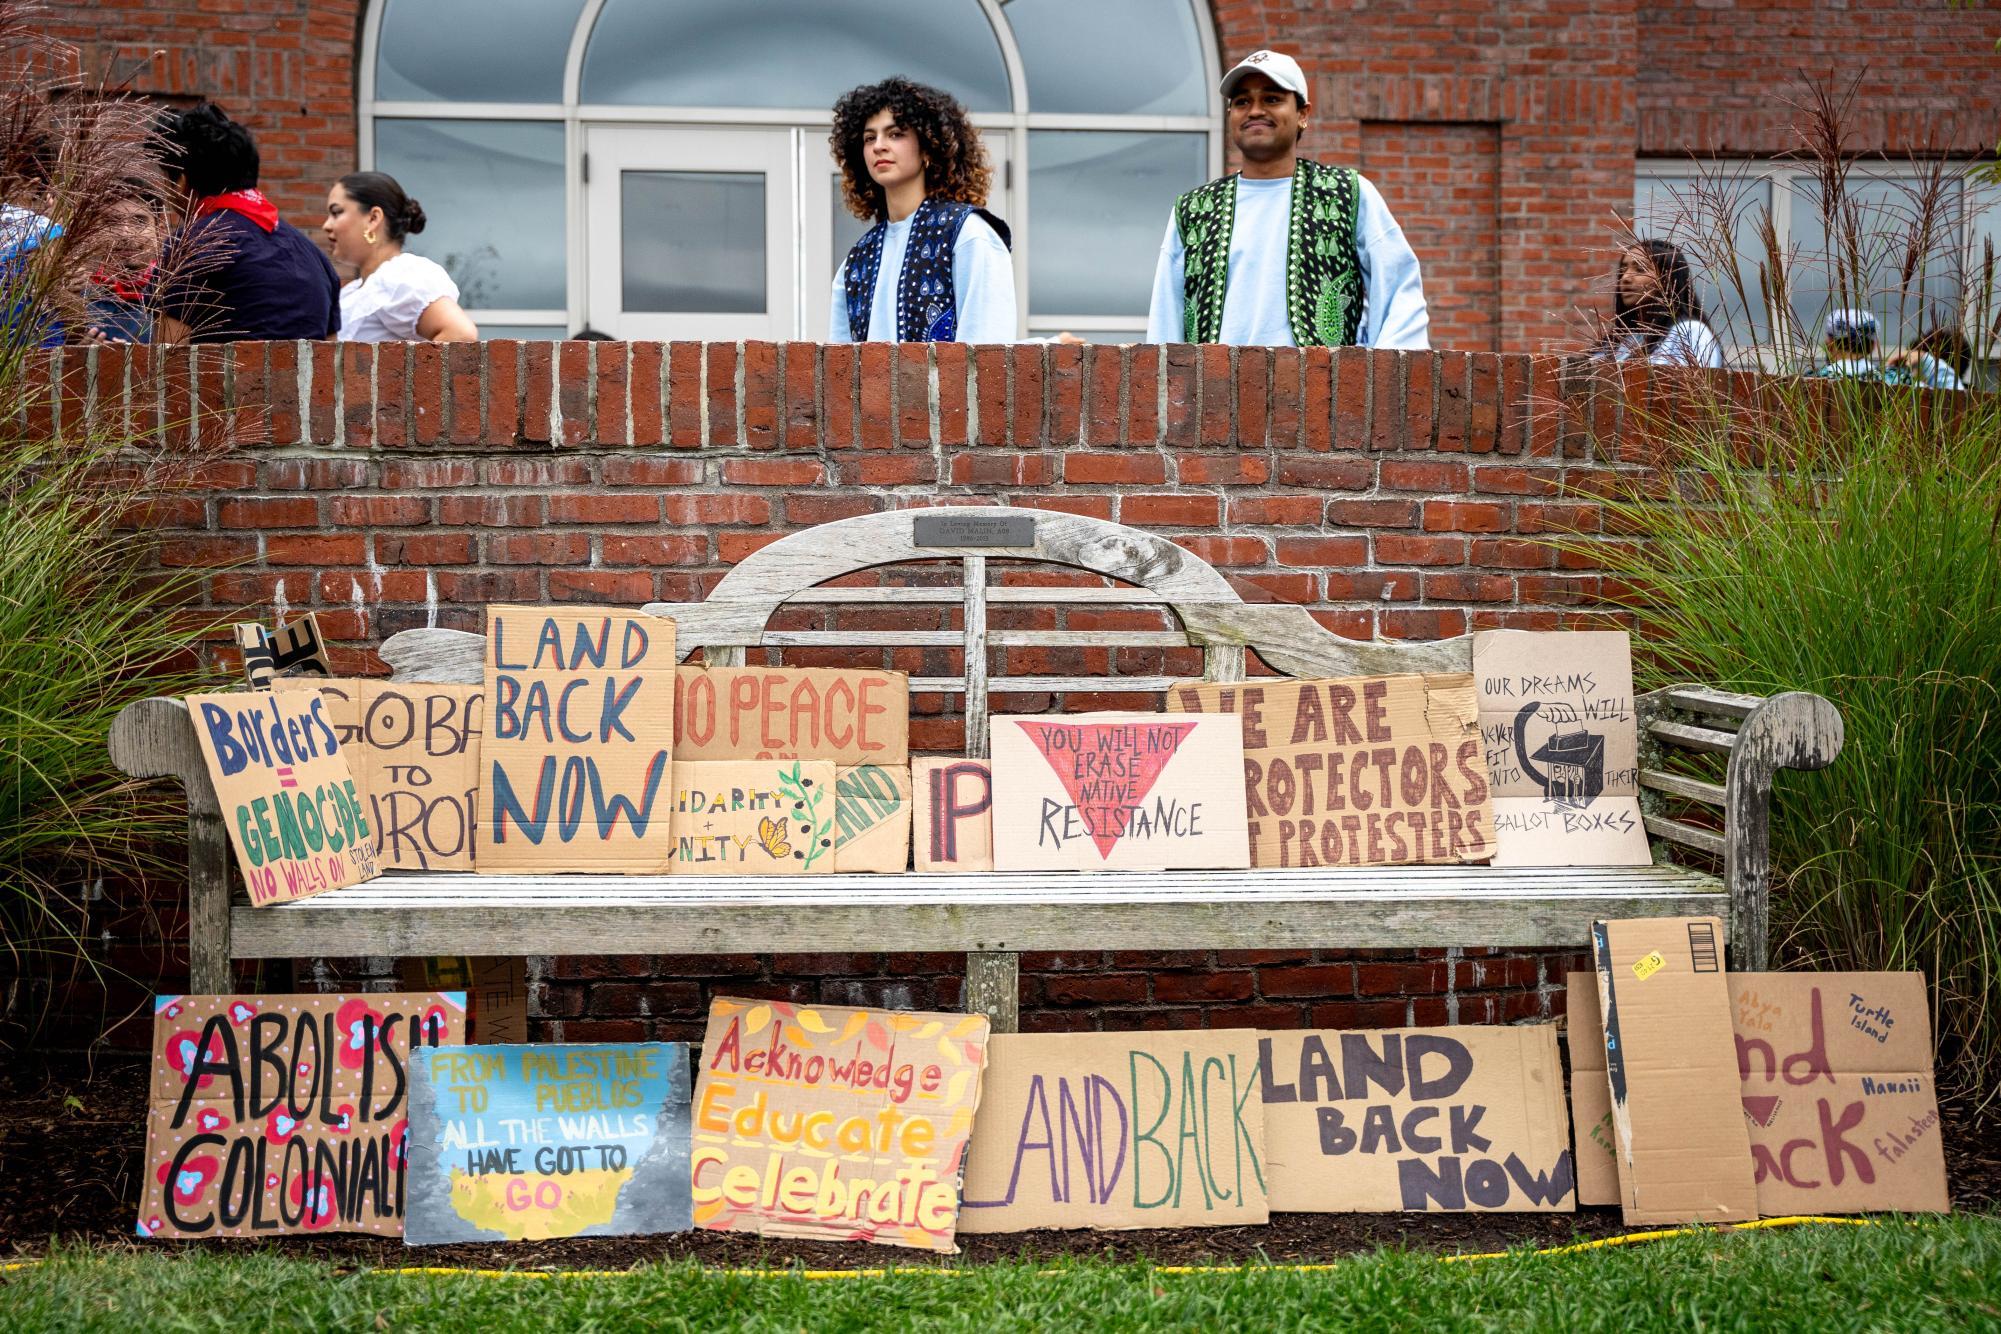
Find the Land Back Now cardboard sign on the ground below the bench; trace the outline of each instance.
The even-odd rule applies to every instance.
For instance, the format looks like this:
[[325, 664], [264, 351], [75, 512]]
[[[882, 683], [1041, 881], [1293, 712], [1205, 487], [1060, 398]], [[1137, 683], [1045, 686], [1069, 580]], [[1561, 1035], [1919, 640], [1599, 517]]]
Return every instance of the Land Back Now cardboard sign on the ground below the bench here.
[[1271, 1208], [1573, 1212], [1551, 1024], [1259, 1034]]

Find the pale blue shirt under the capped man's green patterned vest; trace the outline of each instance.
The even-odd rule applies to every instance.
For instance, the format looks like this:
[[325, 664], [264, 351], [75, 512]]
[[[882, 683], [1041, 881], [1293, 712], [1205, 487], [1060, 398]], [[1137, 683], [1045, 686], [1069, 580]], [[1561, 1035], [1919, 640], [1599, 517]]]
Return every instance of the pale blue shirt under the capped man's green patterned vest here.
[[[1365, 348], [1425, 350], [1431, 314], [1417, 254], [1403, 228], [1367, 176], [1357, 176], [1355, 258], [1363, 270], [1363, 322], [1357, 342]], [[1293, 178], [1237, 178], [1237, 220], [1231, 230], [1231, 272], [1223, 294], [1223, 328], [1217, 342], [1247, 348], [1291, 348], [1285, 262], [1293, 240]], [[1147, 342], [1181, 342], [1187, 304], [1187, 250], [1175, 216], [1167, 218], [1161, 262], [1153, 270], [1153, 308]]]

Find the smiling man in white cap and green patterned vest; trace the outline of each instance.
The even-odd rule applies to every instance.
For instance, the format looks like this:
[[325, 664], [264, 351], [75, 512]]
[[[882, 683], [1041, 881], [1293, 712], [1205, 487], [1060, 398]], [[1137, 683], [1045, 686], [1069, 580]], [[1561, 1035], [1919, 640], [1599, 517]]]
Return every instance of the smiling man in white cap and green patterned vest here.
[[1245, 170], [1183, 194], [1161, 242], [1147, 342], [1429, 348], [1417, 256], [1373, 184], [1299, 156], [1307, 76], [1275, 50], [1223, 78]]

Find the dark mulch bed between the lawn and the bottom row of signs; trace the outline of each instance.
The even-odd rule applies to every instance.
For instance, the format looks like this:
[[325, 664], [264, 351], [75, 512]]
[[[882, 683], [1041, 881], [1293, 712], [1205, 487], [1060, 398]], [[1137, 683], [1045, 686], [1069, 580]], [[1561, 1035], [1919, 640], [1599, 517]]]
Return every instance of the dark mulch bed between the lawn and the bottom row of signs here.
[[[42, 1254], [52, 1242], [136, 1246], [132, 1222], [146, 1144], [146, 1062], [104, 1058], [0, 1068], [0, 1256]], [[1945, 1164], [1959, 1210], [2001, 1208], [2001, 1120], [1975, 1122], [1947, 1104]], [[1615, 1208], [1575, 1214], [1275, 1214], [1253, 1228], [1161, 1228], [1145, 1232], [1019, 1232], [966, 1236], [966, 1260], [1057, 1260], [1101, 1256], [1155, 1264], [1239, 1260], [1331, 1260], [1377, 1246], [1479, 1252], [1521, 1244], [1557, 1246], [1617, 1236]], [[356, 1266], [438, 1264], [454, 1268], [622, 1270], [650, 1260], [692, 1258], [708, 1266], [868, 1268], [932, 1264], [912, 1250], [778, 1242], [722, 1232], [590, 1238], [566, 1242], [458, 1244], [406, 1250], [398, 1240], [314, 1236], [174, 1242], [240, 1250], [262, 1246]]]

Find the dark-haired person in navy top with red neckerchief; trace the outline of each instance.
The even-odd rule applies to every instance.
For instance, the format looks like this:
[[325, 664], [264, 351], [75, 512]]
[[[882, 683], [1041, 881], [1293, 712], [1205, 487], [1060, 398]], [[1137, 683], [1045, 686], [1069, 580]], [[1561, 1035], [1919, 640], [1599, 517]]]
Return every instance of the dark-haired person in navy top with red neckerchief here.
[[202, 102], [162, 124], [168, 180], [186, 222], [168, 238], [154, 342], [328, 338], [340, 278], [320, 248], [258, 192], [250, 130]]

